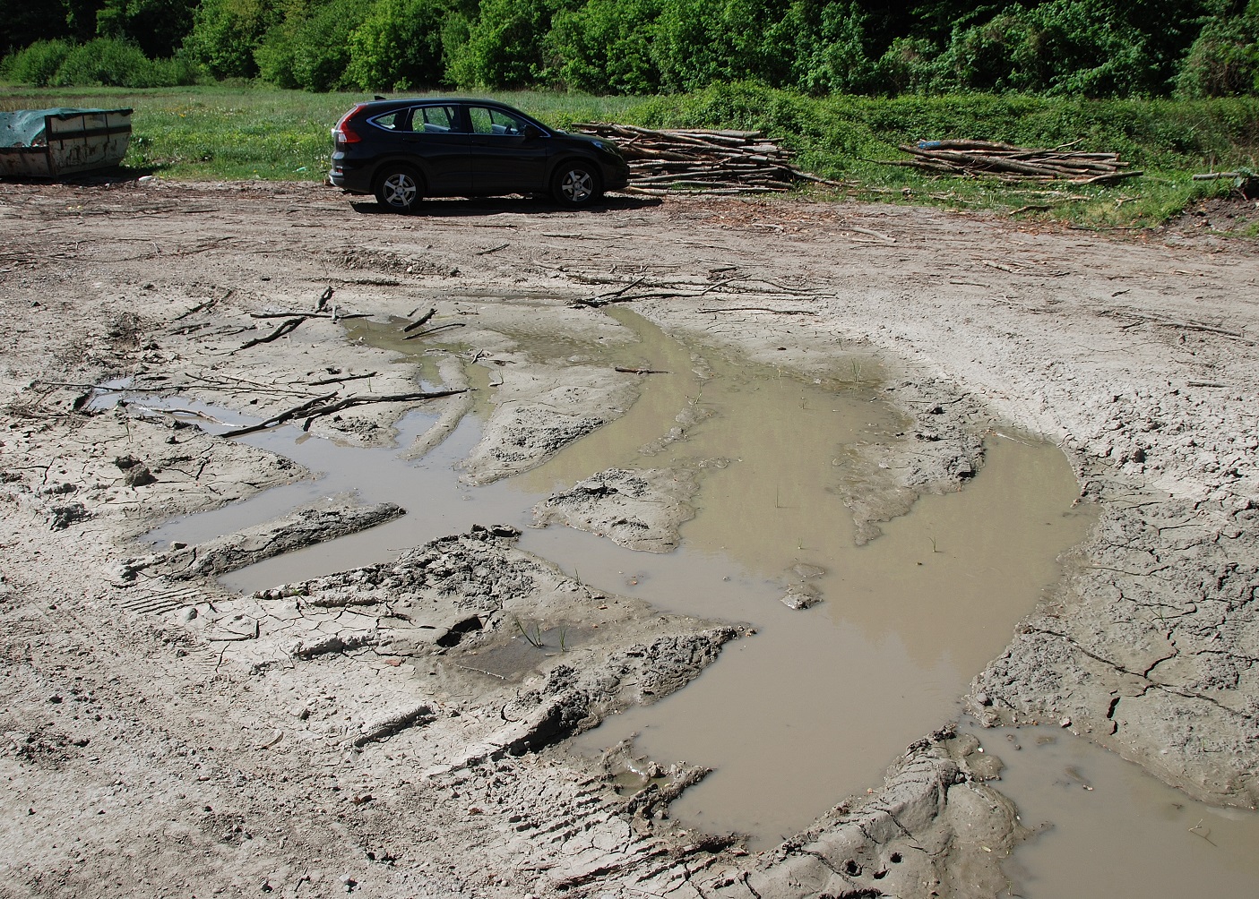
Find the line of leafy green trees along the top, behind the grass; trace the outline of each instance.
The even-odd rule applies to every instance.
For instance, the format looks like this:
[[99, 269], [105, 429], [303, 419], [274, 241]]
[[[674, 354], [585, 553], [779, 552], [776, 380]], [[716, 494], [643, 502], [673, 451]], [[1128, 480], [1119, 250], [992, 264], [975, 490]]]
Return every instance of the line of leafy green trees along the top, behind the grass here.
[[0, 75], [307, 91], [1259, 93], [1259, 0], [0, 0]]

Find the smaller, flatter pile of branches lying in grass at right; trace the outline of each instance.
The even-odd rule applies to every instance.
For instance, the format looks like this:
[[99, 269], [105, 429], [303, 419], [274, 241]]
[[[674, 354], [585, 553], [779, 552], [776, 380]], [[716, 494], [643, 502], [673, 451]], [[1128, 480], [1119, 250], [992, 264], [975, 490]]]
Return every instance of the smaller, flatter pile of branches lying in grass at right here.
[[[1079, 141], [1075, 141], [1079, 143]], [[1054, 150], [1015, 147], [995, 141], [919, 141], [901, 143], [912, 160], [880, 160], [885, 166], [909, 166], [946, 175], [991, 175], [1001, 181], [1068, 181], [1104, 184], [1141, 175], [1119, 153], [1080, 153], [1066, 151], [1065, 143]]]

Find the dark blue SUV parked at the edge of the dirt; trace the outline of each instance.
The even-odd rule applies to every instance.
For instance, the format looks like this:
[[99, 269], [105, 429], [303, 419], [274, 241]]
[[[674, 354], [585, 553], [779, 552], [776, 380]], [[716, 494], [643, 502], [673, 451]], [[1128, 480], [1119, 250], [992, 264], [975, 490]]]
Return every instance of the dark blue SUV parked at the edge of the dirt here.
[[587, 206], [630, 181], [616, 145], [488, 99], [359, 103], [332, 128], [329, 180], [399, 212], [424, 196], [549, 194]]

